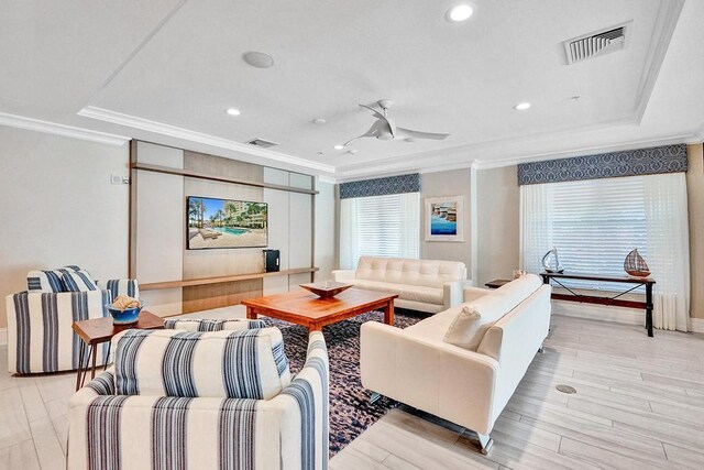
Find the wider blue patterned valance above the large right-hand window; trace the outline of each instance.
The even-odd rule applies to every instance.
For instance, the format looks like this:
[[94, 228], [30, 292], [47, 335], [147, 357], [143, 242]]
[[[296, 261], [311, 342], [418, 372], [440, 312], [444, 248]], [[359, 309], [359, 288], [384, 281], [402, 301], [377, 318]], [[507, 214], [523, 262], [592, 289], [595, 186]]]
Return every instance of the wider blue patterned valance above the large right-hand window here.
[[574, 182], [686, 172], [686, 145], [603, 153], [518, 164], [518, 184]]

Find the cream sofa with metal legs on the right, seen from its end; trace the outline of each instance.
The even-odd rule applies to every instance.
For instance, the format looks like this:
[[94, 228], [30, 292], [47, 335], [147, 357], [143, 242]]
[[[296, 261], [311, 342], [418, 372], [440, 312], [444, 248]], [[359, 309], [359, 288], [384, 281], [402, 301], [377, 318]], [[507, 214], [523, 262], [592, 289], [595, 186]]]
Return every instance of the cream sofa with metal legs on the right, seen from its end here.
[[[550, 293], [549, 285], [528, 274], [496, 291], [466, 288], [471, 302], [406, 329], [365, 323], [362, 384], [476, 431], [486, 453], [496, 418], [548, 335]], [[443, 340], [464, 306], [481, 310], [490, 304], [505, 314], [486, 330], [475, 351]]]

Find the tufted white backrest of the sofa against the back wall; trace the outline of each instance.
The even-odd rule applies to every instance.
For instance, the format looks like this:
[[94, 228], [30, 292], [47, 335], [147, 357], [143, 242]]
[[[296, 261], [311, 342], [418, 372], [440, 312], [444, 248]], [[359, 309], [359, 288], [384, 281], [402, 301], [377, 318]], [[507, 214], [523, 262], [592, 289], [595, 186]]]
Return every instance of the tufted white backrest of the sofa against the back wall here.
[[361, 256], [355, 277], [441, 288], [444, 283], [466, 278], [466, 267], [458, 261]]

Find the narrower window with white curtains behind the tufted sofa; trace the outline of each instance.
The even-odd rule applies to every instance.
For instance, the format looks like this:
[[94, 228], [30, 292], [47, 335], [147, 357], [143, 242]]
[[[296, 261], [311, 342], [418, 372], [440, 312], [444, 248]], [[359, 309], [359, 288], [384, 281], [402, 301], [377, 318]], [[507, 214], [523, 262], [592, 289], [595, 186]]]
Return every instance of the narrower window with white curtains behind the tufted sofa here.
[[340, 267], [360, 256], [419, 256], [420, 194], [356, 197], [340, 201]]

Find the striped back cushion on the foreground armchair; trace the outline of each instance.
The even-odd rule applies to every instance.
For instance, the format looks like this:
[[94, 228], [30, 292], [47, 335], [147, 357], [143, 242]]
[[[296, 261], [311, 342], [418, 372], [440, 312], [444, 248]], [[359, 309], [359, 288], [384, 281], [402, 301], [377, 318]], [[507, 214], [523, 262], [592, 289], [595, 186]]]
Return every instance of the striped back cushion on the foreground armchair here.
[[277, 328], [125, 330], [113, 338], [119, 395], [270, 400], [290, 383]]

